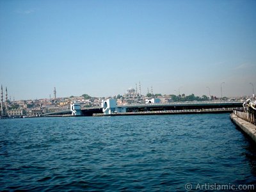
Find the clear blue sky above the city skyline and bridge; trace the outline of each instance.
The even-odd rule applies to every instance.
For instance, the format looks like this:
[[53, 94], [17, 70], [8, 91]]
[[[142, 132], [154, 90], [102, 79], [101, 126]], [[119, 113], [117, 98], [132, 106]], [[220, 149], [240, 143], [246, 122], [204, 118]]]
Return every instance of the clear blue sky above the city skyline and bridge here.
[[256, 92], [256, 1], [0, 1], [0, 83], [15, 99]]

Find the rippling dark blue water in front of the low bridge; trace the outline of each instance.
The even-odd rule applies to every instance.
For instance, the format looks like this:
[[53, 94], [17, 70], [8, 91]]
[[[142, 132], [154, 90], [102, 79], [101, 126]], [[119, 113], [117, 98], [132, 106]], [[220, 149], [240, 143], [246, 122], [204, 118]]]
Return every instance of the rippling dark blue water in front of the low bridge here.
[[255, 184], [229, 113], [0, 120], [0, 190], [184, 191]]

